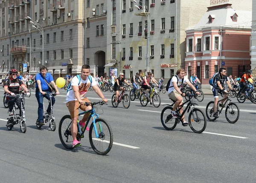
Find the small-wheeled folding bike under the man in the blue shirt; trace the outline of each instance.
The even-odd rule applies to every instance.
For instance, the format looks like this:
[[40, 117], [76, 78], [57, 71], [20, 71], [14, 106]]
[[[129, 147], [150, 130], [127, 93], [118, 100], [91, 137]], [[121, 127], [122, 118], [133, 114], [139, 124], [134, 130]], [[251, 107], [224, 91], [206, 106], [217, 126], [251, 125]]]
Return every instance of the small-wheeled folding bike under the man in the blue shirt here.
[[[48, 93], [48, 94], [50, 96], [49, 102], [50, 102], [50, 105], [51, 105], [51, 114], [49, 115], [45, 112], [45, 108], [44, 108], [44, 104], [43, 104], [44, 125], [49, 121], [49, 128], [52, 131], [55, 131], [56, 130], [56, 123], [55, 123], [55, 117], [53, 116], [53, 110], [52, 110], [52, 97], [55, 96], [56, 94], [55, 93]], [[40, 129], [43, 126], [43, 125], [39, 124], [38, 119], [36, 120], [35, 124], [36, 124], [36, 127], [38, 129]]]

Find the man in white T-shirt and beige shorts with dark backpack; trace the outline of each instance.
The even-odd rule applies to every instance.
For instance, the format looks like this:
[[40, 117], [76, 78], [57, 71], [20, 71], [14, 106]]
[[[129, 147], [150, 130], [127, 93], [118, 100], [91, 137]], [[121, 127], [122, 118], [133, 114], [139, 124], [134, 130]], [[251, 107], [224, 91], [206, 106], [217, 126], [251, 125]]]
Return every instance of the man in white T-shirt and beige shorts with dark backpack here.
[[[172, 76], [172, 80], [170, 82], [169, 88], [166, 88], [168, 90], [167, 94], [170, 99], [175, 101], [175, 104], [172, 109], [172, 116], [177, 118], [177, 114], [175, 112], [176, 108], [180, 105], [183, 104], [183, 98], [182, 96], [185, 96], [185, 93], [182, 93], [180, 91], [180, 86], [183, 84], [182, 82], [186, 82], [192, 90], [195, 91], [195, 94], [198, 95], [200, 94], [199, 92], [196, 91], [195, 87], [191, 82], [189, 82], [189, 79], [185, 77], [185, 70], [183, 68], [180, 68], [177, 70], [176, 75]], [[183, 109], [180, 109], [180, 114], [183, 113]], [[183, 115], [182, 117], [182, 125], [186, 127], [189, 123], [185, 121], [185, 116]]]

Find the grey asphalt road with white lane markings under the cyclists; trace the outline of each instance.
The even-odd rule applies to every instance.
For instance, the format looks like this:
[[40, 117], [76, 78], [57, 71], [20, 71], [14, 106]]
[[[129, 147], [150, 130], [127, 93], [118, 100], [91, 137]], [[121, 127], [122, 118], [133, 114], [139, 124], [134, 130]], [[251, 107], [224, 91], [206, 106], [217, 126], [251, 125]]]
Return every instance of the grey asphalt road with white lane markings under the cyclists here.
[[[26, 99], [25, 134], [17, 125], [12, 131], [6, 127], [7, 109], [3, 108], [3, 90], [0, 90], [0, 182], [26, 183], [255, 183], [256, 182], [256, 105], [250, 101], [238, 104], [240, 118], [236, 124], [226, 121], [224, 113], [215, 122], [207, 121], [204, 133], [196, 134], [189, 127], [177, 124], [175, 130], [165, 130], [160, 121], [162, 104], [169, 103], [167, 94], [161, 94], [159, 108], [142, 107], [138, 99], [129, 109], [122, 104], [113, 108], [111, 101], [102, 106], [100, 117], [112, 127], [114, 144], [108, 155], [97, 155], [89, 139], [81, 146], [68, 150], [61, 144], [58, 124], [69, 114], [64, 90], [56, 96], [55, 132], [47, 127], [38, 130], [35, 93]], [[34, 92], [34, 91], [33, 91]], [[111, 99], [113, 93], [106, 92]], [[99, 101], [89, 91], [90, 101]], [[212, 96], [205, 96], [198, 107], [205, 107]], [[233, 99], [236, 103], [236, 99]], [[45, 100], [47, 104], [47, 101]], [[102, 112], [99, 110], [99, 113]], [[186, 113], [186, 118], [188, 113]]]

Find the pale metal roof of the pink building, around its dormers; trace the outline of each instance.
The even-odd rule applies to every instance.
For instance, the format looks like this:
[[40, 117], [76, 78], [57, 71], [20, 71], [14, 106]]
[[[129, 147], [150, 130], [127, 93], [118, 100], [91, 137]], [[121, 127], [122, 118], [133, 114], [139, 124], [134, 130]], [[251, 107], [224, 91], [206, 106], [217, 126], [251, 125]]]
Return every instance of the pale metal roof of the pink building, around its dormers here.
[[[232, 16], [237, 14], [237, 21], [232, 20]], [[209, 23], [208, 18], [214, 17], [214, 21]], [[202, 29], [207, 27], [227, 27], [227, 28], [251, 28], [252, 11], [235, 10], [233, 8], [221, 8], [207, 11], [201, 20], [187, 30]]]

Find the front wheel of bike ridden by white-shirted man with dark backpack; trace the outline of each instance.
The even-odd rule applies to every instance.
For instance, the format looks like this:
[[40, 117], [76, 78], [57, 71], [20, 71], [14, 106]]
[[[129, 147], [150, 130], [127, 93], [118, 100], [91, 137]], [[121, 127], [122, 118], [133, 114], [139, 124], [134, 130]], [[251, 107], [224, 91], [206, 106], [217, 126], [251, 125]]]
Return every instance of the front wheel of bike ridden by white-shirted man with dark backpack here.
[[189, 127], [195, 133], [204, 132], [207, 122], [205, 114], [202, 110], [194, 108], [189, 113]]

